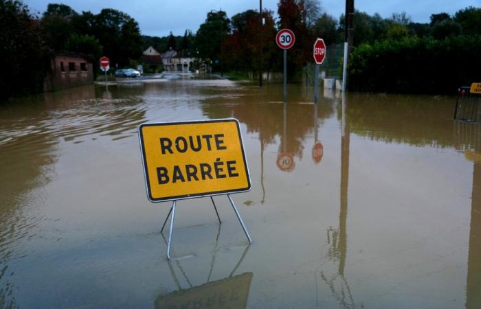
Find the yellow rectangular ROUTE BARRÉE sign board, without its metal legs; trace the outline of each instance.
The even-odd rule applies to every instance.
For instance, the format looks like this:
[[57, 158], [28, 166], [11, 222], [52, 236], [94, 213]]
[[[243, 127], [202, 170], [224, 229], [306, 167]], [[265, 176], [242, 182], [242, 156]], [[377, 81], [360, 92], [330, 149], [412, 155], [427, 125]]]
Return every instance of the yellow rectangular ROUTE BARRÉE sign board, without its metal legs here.
[[139, 138], [150, 201], [251, 188], [236, 119], [142, 124]]

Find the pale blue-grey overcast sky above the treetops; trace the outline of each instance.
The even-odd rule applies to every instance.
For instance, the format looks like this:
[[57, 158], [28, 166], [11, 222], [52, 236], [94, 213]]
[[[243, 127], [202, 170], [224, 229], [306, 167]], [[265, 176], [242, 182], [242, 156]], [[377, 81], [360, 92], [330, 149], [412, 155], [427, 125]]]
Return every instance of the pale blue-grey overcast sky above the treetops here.
[[[323, 11], [339, 18], [344, 12], [344, 0], [320, 1]], [[259, 9], [258, 0], [24, 0], [32, 10], [44, 12], [48, 3], [64, 3], [77, 12], [98, 13], [102, 8], [114, 8], [132, 16], [140, 26], [142, 34], [166, 36], [170, 31], [183, 35], [186, 29], [197, 32], [210, 10], [224, 10], [227, 16], [249, 9]], [[263, 0], [263, 8], [277, 11], [278, 0]], [[429, 22], [433, 13], [454, 14], [469, 5], [481, 6], [481, 0], [355, 0], [357, 10], [383, 17], [393, 12], [407, 12], [418, 23]]]

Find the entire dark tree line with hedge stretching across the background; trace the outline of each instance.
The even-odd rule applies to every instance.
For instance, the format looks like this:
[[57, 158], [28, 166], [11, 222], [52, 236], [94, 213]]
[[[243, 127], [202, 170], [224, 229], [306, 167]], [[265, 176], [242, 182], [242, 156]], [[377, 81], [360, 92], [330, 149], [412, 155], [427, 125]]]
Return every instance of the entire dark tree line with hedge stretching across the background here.
[[[0, 40], [3, 43], [0, 97], [41, 91], [55, 53], [84, 54], [98, 68], [98, 58], [112, 65], [133, 65], [152, 45], [159, 52], [175, 49], [212, 64], [214, 71], [257, 76], [282, 71], [276, 32], [289, 28], [295, 45], [289, 50], [289, 80], [312, 59], [316, 37], [328, 46], [344, 42], [344, 14], [322, 10], [318, 0], [279, 0], [278, 18], [271, 10], [246, 10], [230, 18], [222, 11], [207, 13], [199, 29], [183, 36], [142, 36], [135, 19], [105, 8], [98, 14], [78, 13], [51, 3], [38, 16], [19, 0], [0, 0]], [[262, 19], [262, 25], [260, 20]], [[415, 23], [405, 12], [388, 18], [355, 11], [354, 41], [348, 67], [348, 87], [356, 91], [443, 93], [477, 78], [481, 63], [481, 9], [465, 8], [454, 15], [432, 14], [429, 23]], [[262, 32], [262, 63], [260, 34]], [[449, 61], [448, 61], [449, 60]], [[339, 63], [341, 59], [339, 59]], [[463, 65], [469, 62], [469, 65]], [[443, 78], [449, 80], [443, 80]], [[450, 90], [449, 90], [450, 91]]]

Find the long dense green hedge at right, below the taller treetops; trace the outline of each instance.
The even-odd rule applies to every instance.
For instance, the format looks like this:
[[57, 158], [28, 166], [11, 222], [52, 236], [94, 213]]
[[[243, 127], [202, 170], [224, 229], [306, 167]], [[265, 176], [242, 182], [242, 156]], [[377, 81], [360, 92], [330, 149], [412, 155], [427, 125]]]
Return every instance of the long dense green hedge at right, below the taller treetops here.
[[481, 36], [406, 37], [353, 49], [348, 88], [388, 93], [456, 93], [481, 82]]

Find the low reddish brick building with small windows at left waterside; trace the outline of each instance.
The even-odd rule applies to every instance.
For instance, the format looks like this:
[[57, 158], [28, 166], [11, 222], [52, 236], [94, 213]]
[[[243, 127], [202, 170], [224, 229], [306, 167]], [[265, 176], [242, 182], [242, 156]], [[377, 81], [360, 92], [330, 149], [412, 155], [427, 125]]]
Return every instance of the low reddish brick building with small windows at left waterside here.
[[93, 65], [84, 56], [56, 54], [43, 81], [43, 91], [93, 84]]

